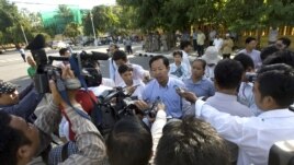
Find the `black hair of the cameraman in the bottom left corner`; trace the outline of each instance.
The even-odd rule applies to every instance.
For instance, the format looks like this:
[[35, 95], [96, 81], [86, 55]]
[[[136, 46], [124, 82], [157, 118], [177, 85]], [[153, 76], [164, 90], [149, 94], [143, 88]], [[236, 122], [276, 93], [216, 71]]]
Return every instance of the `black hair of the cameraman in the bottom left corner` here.
[[18, 150], [32, 142], [18, 129], [10, 127], [12, 117], [0, 110], [0, 162], [3, 165], [18, 164]]

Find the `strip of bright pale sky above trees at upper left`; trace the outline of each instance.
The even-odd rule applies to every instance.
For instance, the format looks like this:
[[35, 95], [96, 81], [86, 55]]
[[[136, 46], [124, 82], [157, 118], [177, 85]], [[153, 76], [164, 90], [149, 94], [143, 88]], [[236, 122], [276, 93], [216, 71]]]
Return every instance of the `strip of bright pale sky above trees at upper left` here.
[[79, 5], [80, 9], [92, 9], [94, 5], [113, 5], [115, 0], [9, 0], [14, 2], [19, 10], [26, 8], [31, 12], [54, 11], [58, 4]]

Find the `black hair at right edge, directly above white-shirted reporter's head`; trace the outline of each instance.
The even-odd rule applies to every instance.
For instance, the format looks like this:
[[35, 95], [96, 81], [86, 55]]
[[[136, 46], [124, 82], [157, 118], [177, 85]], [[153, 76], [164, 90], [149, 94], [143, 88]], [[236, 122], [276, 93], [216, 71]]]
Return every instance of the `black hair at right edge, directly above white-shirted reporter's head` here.
[[285, 63], [294, 68], [294, 52], [291, 50], [281, 50], [268, 57], [262, 64]]

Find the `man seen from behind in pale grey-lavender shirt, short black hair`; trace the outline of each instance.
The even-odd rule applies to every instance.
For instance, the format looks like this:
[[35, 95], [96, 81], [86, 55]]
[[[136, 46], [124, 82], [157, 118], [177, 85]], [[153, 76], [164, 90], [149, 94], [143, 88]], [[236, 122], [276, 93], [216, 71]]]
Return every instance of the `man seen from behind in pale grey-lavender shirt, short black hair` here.
[[[244, 68], [235, 60], [226, 59], [219, 61], [214, 70], [214, 85], [216, 93], [208, 97], [206, 103], [219, 111], [228, 113], [233, 116], [250, 117], [253, 114], [248, 107], [237, 102], [236, 91], [240, 85]], [[237, 163], [238, 146], [227, 141], [230, 150], [230, 162]]]

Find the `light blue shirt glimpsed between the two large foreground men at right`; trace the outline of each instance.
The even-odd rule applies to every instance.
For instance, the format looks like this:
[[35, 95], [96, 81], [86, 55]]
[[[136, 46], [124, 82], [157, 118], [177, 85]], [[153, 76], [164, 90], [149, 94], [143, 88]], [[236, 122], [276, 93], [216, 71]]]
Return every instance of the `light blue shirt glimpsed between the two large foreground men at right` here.
[[237, 96], [237, 101], [241, 103], [242, 105], [249, 107], [250, 110], [255, 114], [255, 116], [258, 116], [263, 111], [259, 109], [256, 105], [252, 89], [253, 89], [252, 83], [241, 82], [238, 96]]

